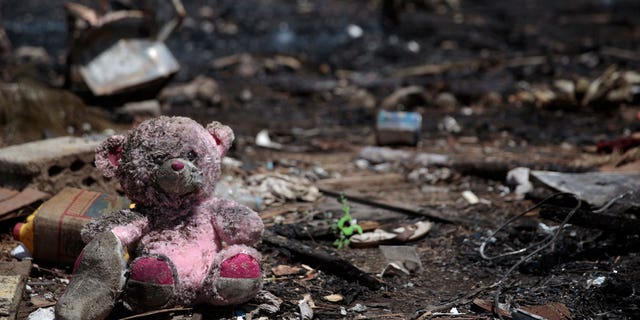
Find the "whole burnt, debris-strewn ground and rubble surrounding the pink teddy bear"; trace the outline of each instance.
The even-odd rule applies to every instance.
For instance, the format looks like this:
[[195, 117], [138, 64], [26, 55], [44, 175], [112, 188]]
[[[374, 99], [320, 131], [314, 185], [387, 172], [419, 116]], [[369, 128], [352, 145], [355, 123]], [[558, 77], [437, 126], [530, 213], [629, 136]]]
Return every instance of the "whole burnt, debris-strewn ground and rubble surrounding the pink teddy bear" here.
[[264, 287], [109, 319], [640, 317], [640, 3], [176, 1], [0, 2], [0, 319], [53, 319], [83, 243], [21, 228], [129, 206], [94, 150], [160, 115], [234, 130]]

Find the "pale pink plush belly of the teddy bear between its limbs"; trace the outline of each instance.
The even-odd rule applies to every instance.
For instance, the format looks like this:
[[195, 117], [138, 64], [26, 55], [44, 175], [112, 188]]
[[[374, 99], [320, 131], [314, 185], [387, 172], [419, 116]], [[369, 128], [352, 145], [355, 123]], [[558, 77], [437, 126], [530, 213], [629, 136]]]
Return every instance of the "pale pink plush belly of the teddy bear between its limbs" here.
[[[140, 240], [143, 255], [164, 255], [173, 263], [177, 272], [177, 293], [193, 295], [202, 286], [211, 263], [220, 250], [210, 224], [185, 227], [178, 230], [152, 231]], [[197, 236], [196, 236], [197, 235]]]

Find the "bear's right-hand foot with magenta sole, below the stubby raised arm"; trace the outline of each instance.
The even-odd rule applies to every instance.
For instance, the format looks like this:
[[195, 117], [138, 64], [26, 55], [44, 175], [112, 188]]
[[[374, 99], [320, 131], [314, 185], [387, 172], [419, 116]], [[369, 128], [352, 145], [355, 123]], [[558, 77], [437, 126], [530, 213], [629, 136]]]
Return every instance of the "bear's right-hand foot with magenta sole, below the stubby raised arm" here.
[[249, 301], [262, 288], [260, 254], [257, 250], [232, 245], [218, 253], [203, 287], [203, 302], [214, 305]]

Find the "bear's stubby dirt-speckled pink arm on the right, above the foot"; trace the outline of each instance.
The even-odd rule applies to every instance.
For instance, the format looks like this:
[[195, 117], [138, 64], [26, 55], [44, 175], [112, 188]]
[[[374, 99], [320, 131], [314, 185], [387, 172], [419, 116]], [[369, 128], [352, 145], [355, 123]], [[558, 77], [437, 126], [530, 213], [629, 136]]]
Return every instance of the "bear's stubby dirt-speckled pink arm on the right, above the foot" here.
[[226, 199], [217, 199], [212, 209], [212, 223], [220, 240], [249, 246], [260, 241], [264, 224], [255, 211]]

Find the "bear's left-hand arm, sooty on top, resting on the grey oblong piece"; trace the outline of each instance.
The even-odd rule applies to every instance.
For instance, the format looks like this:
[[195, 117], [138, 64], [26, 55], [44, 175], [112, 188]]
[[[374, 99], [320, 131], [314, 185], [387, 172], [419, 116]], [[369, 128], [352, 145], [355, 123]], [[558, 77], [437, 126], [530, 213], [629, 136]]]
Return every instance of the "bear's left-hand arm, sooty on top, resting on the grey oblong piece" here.
[[80, 235], [85, 243], [89, 243], [100, 233], [111, 231], [120, 239], [123, 245], [129, 246], [142, 237], [145, 231], [148, 230], [148, 226], [149, 220], [147, 217], [138, 212], [123, 209], [89, 221], [82, 228]]

